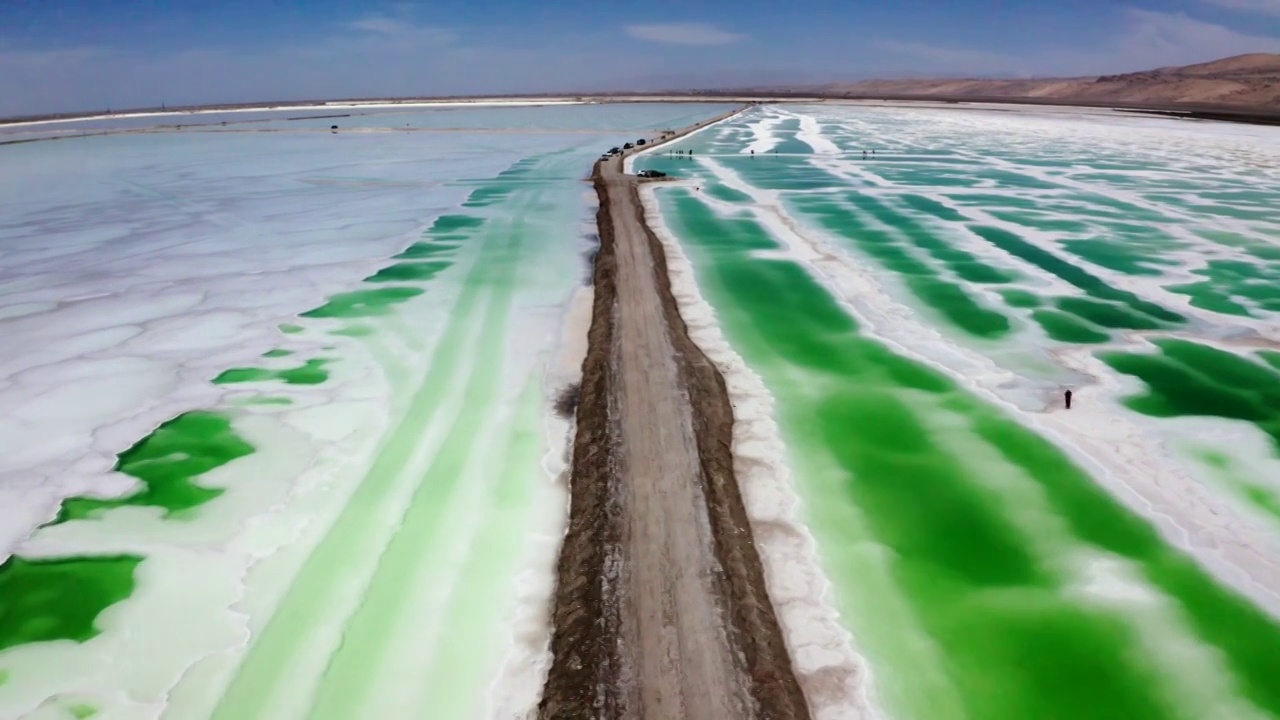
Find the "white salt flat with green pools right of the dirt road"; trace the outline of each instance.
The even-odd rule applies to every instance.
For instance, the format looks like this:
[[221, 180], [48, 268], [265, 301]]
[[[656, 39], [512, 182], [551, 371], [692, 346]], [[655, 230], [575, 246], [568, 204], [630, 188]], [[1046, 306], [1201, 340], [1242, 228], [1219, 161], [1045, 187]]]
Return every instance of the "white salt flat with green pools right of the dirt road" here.
[[637, 160], [755, 521], [794, 478], [815, 541], [758, 530], [817, 716], [1280, 714], [1275, 149], [823, 105]]

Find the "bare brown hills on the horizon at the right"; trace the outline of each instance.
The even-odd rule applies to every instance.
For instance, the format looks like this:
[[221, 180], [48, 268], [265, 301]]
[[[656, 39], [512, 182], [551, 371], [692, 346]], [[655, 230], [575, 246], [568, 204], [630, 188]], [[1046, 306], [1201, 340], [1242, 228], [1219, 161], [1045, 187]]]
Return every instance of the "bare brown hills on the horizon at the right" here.
[[870, 79], [831, 85], [847, 96], [1039, 99], [1124, 105], [1233, 105], [1280, 109], [1280, 55], [1256, 53], [1138, 73], [1032, 79]]

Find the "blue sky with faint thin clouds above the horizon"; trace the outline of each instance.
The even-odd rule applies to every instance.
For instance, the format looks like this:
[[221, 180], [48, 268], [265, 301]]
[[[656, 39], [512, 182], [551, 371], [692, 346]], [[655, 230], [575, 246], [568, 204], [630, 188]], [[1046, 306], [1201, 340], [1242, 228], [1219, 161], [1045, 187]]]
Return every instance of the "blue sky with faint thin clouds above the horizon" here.
[[1280, 51], [1280, 0], [0, 0], [0, 115], [1070, 76]]

